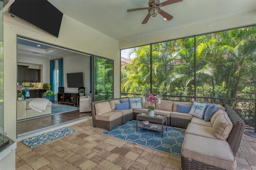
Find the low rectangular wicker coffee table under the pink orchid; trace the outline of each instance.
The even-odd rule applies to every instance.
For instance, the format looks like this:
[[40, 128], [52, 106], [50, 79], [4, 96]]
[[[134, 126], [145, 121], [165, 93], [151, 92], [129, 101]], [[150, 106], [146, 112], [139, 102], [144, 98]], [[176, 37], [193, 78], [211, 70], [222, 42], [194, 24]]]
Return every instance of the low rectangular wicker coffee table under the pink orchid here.
[[[162, 132], [162, 137], [163, 137], [164, 129], [166, 129], [166, 132], [167, 132], [167, 117], [166, 115], [160, 115], [160, 117], [157, 117], [157, 116], [158, 115], [155, 115], [154, 117], [150, 117], [148, 116], [148, 113], [138, 114], [136, 119], [136, 131], [138, 130], [138, 127], [146, 128], [146, 129]], [[149, 125], [144, 125], [143, 123], [140, 123], [140, 125], [138, 125], [138, 120], [149, 121], [150, 122], [149, 125], [152, 125], [152, 123], [154, 123], [154, 125], [157, 125], [158, 127], [159, 125], [162, 125], [162, 128], [151, 128]]]

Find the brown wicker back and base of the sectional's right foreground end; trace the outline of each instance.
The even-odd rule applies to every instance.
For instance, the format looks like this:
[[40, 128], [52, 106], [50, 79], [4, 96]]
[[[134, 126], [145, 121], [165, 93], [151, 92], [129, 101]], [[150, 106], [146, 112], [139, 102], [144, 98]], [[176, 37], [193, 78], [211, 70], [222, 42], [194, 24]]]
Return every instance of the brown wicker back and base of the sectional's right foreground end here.
[[[228, 104], [224, 104], [224, 107], [226, 108], [226, 113], [228, 114], [228, 117], [230, 118], [233, 124], [233, 128], [230, 132], [227, 142], [230, 145], [233, 154], [236, 155], [236, 152], [242, 139], [245, 124], [244, 121], [239, 117], [239, 115]], [[196, 160], [188, 159], [184, 156], [181, 157], [181, 165], [182, 170], [222, 170], [222, 168], [212, 166], [209, 164], [204, 164]]]

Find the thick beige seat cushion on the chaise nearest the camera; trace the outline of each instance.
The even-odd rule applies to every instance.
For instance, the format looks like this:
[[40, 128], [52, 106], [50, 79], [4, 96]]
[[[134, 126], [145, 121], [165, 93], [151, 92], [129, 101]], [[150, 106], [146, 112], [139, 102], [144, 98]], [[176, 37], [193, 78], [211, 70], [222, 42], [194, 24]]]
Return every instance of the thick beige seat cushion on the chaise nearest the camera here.
[[217, 166], [219, 168], [236, 169], [236, 159], [228, 142], [203, 136], [186, 134], [181, 149], [182, 156]]

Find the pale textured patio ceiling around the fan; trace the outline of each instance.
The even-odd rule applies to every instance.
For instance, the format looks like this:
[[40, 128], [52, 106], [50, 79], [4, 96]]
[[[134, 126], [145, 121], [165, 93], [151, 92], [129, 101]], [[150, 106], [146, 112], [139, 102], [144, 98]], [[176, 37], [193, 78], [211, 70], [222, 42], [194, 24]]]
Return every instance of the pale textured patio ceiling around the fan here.
[[[194, 23], [256, 10], [256, 0], [183, 0], [161, 7], [174, 18], [164, 21], [161, 15], [141, 24], [148, 10], [148, 0], [48, 0], [63, 14], [116, 40], [151, 34]], [[164, 2], [165, 0], [160, 0]]]

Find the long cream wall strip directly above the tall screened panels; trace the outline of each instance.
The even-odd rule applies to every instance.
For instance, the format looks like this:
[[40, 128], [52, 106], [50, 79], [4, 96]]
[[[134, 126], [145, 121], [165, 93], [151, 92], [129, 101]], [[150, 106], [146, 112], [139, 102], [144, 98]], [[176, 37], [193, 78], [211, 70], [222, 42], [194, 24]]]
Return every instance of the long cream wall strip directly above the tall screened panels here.
[[[172, 20], [170, 20], [169, 22], [172, 22]], [[148, 45], [155, 42], [164, 42], [168, 40], [175, 40], [178, 38], [201, 35], [210, 32], [218, 32], [222, 30], [250, 26], [255, 24], [256, 10], [209, 20], [207, 22], [195, 23], [181, 28], [165, 30], [162, 32], [156, 32], [154, 34], [147, 34], [144, 36], [138, 36], [127, 40], [122, 40], [119, 42], [119, 48], [126, 49], [141, 45]]]

